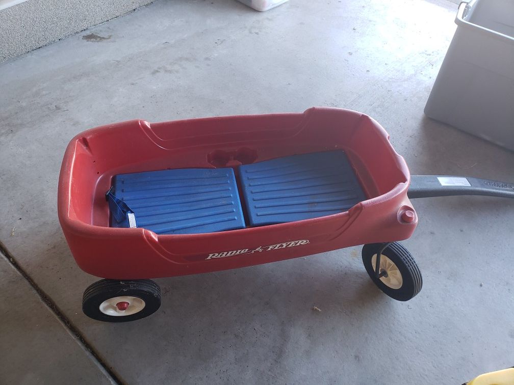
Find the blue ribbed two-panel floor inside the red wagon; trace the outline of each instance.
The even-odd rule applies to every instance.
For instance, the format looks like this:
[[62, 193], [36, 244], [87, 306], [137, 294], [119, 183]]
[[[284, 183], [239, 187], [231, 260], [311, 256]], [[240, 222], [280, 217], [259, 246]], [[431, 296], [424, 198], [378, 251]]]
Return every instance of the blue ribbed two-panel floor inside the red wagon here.
[[130, 214], [116, 215], [120, 208], [109, 197], [111, 226], [156, 234], [212, 233], [337, 214], [365, 199], [342, 150], [242, 165], [237, 174], [239, 190], [232, 168], [117, 175], [112, 192]]

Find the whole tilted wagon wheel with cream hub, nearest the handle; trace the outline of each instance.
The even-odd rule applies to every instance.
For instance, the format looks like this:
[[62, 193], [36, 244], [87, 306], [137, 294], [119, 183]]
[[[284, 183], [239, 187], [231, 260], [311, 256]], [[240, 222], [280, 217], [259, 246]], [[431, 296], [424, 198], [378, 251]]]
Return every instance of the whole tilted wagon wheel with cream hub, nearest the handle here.
[[[386, 246], [384, 248], [384, 246]], [[380, 253], [380, 250], [382, 252]], [[379, 271], [376, 272], [380, 253]], [[369, 276], [391, 298], [408, 301], [421, 290], [423, 279], [411, 253], [398, 242], [370, 243], [362, 247], [362, 262]]]

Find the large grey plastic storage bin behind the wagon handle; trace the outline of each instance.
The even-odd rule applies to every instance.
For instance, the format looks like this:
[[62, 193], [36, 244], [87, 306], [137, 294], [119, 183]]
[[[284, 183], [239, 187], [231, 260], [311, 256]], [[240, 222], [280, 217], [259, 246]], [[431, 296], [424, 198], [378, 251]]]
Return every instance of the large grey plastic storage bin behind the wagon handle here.
[[455, 23], [425, 113], [514, 150], [514, 1], [463, 2]]

